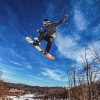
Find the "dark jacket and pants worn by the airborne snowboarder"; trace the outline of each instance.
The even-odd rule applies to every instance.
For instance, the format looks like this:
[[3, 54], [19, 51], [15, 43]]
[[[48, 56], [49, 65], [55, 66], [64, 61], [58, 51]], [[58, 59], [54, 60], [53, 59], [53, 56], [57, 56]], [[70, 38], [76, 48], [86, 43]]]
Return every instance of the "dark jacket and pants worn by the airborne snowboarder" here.
[[46, 52], [50, 51], [54, 38], [56, 37], [56, 28], [59, 25], [61, 25], [65, 21], [65, 19], [66, 19], [66, 16], [64, 16], [62, 20], [60, 20], [57, 23], [51, 23], [49, 26], [45, 26], [43, 32], [39, 31], [40, 33], [38, 37], [39, 41], [45, 40], [48, 42], [45, 49]]

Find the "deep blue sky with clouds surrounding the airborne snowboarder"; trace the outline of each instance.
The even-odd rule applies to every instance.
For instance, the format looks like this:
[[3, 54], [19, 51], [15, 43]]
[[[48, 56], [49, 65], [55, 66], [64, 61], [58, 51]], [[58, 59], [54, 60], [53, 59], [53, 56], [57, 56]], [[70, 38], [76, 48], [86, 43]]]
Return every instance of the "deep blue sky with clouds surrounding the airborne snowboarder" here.
[[[44, 18], [59, 21], [57, 37], [47, 59], [25, 40], [38, 36]], [[68, 86], [67, 72], [80, 68], [80, 54], [94, 42], [100, 48], [99, 0], [0, 0], [0, 69], [7, 82], [34, 86]], [[42, 43], [44, 48], [45, 41]], [[89, 51], [89, 59], [93, 57]]]

